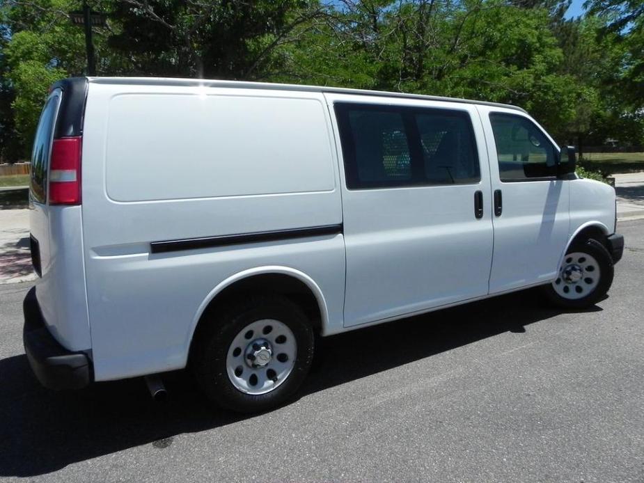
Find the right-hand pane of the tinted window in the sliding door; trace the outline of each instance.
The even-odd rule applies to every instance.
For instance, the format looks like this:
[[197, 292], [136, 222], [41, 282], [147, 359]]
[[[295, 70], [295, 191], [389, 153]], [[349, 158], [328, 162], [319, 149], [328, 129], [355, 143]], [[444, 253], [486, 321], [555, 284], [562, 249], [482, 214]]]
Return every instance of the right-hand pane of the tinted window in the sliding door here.
[[466, 113], [430, 111], [416, 114], [428, 184], [480, 181], [476, 143]]

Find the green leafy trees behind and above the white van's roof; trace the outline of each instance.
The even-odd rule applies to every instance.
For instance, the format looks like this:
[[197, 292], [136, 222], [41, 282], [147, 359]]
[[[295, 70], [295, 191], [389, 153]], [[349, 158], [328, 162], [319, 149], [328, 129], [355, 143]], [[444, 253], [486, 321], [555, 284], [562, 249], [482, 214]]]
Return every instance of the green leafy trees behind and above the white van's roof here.
[[[248, 79], [509, 102], [563, 142], [642, 143], [640, 0], [88, 0], [100, 75]], [[0, 156], [85, 73], [80, 0], [0, 0]]]

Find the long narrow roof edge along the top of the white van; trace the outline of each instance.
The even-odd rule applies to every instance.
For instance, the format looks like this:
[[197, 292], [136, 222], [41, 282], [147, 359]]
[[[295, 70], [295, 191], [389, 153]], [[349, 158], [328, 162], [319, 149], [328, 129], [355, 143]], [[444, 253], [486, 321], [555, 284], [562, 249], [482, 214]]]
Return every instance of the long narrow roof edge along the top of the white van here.
[[93, 84], [125, 84], [136, 86], [189, 86], [189, 87], [222, 87], [222, 88], [246, 88], [246, 89], [272, 89], [272, 90], [295, 90], [300, 92], [337, 93], [352, 95], [379, 95], [381, 97], [395, 97], [400, 99], [418, 99], [443, 102], [460, 102], [463, 104], [482, 104], [484, 106], [503, 107], [527, 113], [519, 106], [503, 104], [501, 102], [488, 102], [480, 100], [461, 99], [460, 97], [443, 97], [438, 95], [394, 93], [387, 90], [366, 90], [343, 87], [309, 86], [306, 84], [277, 84], [272, 82], [250, 82], [250, 81], [223, 81], [217, 79], [187, 79], [180, 77], [88, 77]]

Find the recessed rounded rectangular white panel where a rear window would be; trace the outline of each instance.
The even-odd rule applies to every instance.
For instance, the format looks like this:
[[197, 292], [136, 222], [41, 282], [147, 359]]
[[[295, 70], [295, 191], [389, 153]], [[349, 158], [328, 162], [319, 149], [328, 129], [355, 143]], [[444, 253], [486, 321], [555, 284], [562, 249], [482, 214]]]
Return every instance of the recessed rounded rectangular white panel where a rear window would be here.
[[132, 93], [113, 97], [109, 109], [112, 200], [333, 190], [324, 105], [315, 98]]

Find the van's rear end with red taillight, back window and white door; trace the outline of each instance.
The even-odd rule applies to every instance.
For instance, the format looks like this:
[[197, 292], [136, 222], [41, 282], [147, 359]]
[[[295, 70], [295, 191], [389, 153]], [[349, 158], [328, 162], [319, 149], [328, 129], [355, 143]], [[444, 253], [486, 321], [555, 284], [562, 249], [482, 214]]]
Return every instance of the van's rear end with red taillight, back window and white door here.
[[45, 323], [65, 349], [91, 349], [81, 214], [81, 134], [86, 79], [52, 86], [31, 157], [31, 257], [36, 299]]

